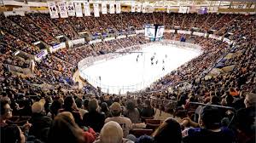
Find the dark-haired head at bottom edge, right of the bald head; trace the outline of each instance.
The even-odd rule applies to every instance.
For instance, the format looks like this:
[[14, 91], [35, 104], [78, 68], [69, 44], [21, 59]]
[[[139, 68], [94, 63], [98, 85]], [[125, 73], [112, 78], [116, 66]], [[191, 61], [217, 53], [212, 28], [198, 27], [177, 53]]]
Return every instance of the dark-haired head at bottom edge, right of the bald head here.
[[165, 143], [172, 140], [172, 143], [181, 143], [182, 132], [180, 124], [172, 118], [166, 119], [153, 133], [155, 143]]

